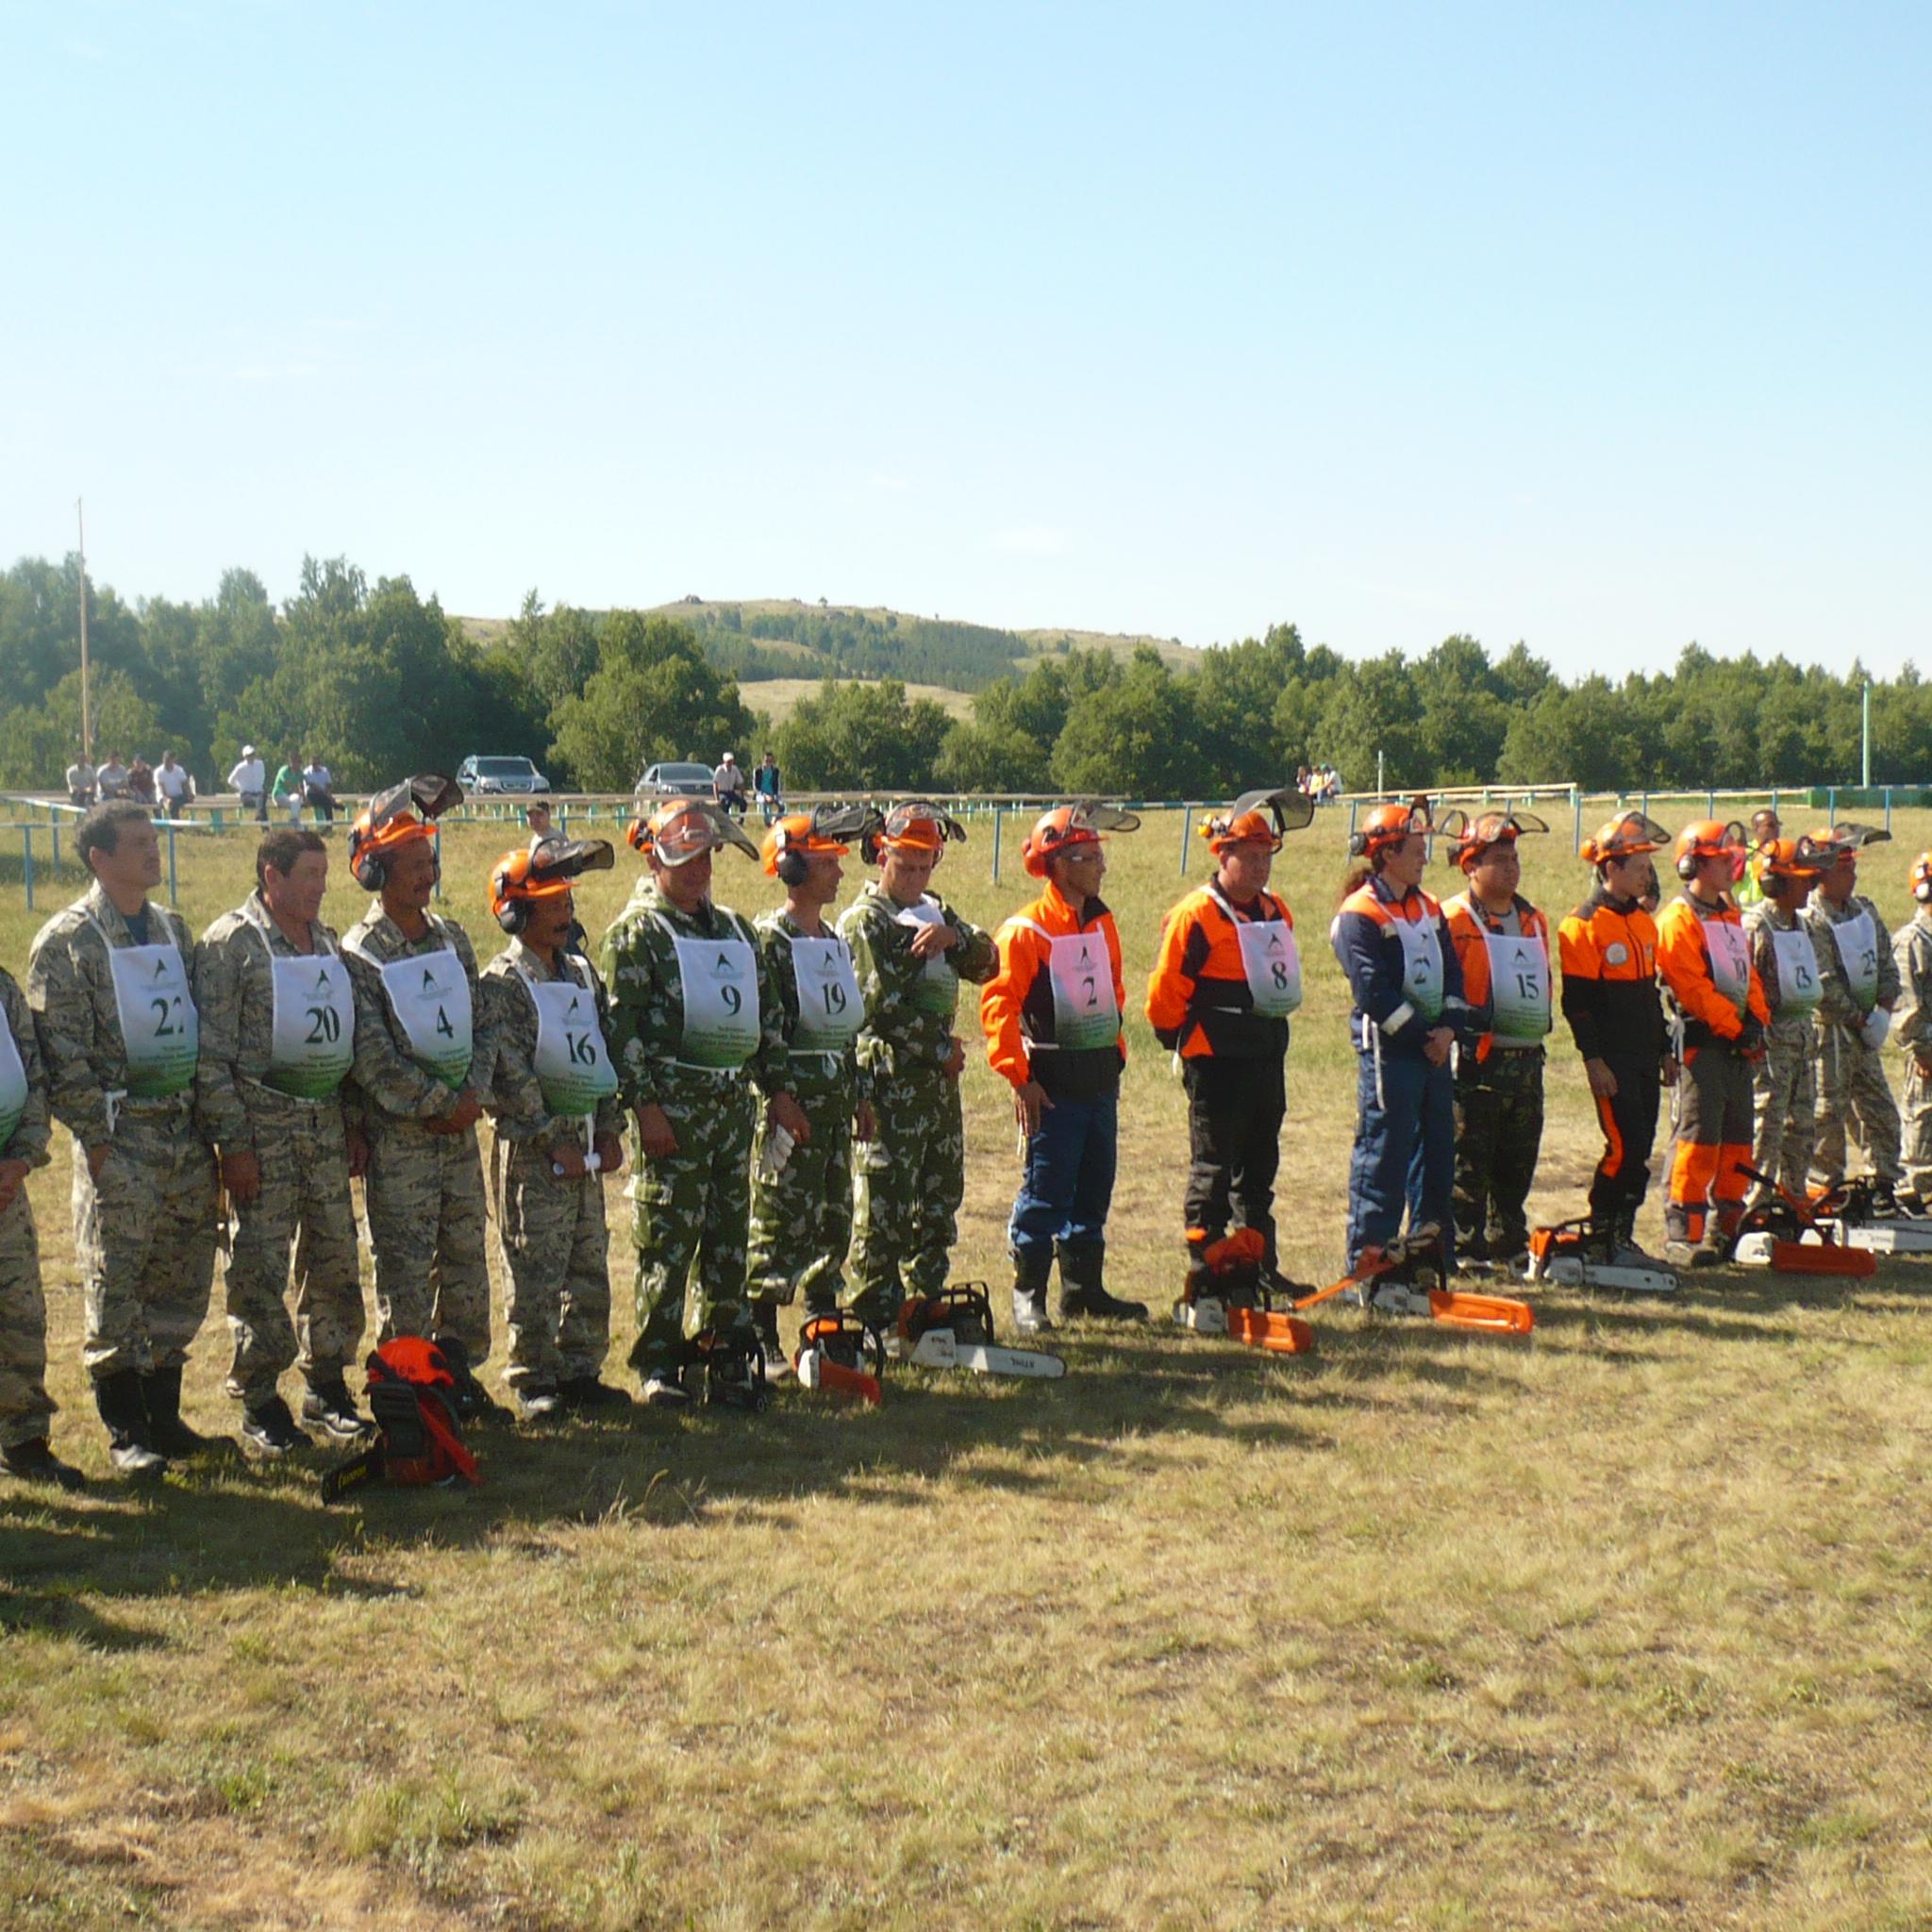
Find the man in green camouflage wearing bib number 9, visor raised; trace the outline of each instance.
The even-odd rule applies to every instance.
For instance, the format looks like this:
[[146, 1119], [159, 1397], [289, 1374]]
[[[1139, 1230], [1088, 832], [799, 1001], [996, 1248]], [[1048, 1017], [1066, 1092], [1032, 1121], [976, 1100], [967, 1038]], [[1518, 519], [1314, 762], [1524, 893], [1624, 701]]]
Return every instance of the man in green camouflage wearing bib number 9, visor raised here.
[[784, 1009], [757, 933], [711, 898], [711, 854], [730, 844], [755, 858], [757, 846], [692, 798], [634, 823], [630, 840], [651, 873], [605, 933], [603, 974], [618, 1092], [638, 1117], [632, 1366], [647, 1403], [676, 1406], [701, 1345], [732, 1360], [734, 1387], [717, 1393], [736, 1399], [755, 1347], [744, 1306], [752, 1086], [792, 1140], [810, 1142], [811, 1122], [790, 1092]]

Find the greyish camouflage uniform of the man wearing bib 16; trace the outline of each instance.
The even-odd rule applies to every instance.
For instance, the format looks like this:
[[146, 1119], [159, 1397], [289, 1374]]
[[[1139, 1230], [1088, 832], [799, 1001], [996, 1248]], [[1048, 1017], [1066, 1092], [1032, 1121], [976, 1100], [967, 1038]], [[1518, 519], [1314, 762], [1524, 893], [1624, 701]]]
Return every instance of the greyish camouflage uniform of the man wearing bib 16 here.
[[[491, 1194], [504, 1279], [504, 1372], [512, 1389], [554, 1391], [595, 1376], [611, 1349], [611, 1231], [601, 1175], [562, 1180], [551, 1159], [562, 1146], [583, 1151], [583, 1115], [553, 1113], [537, 1078], [539, 985], [585, 989], [587, 1024], [609, 1045], [605, 991], [589, 960], [558, 952], [547, 966], [512, 939], [483, 970], [483, 1010], [493, 1049], [489, 1107], [497, 1126]], [[614, 1094], [591, 1117], [593, 1134], [618, 1134], [624, 1109]]]

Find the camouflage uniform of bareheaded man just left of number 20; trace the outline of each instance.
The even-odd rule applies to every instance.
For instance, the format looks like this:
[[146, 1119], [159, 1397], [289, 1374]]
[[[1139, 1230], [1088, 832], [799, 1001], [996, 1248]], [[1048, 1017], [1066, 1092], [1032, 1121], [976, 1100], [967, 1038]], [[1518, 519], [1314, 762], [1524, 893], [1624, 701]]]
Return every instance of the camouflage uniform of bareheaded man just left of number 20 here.
[[[147, 906], [151, 945], [195, 943], [178, 912]], [[27, 1005], [46, 1063], [48, 1103], [79, 1144], [73, 1250], [87, 1304], [83, 1360], [95, 1378], [180, 1368], [214, 1287], [214, 1153], [195, 1124], [191, 1084], [164, 1099], [128, 1095], [128, 1051], [108, 951], [135, 939], [99, 881], [54, 914], [27, 958]], [[99, 1182], [93, 1148], [112, 1148]]]

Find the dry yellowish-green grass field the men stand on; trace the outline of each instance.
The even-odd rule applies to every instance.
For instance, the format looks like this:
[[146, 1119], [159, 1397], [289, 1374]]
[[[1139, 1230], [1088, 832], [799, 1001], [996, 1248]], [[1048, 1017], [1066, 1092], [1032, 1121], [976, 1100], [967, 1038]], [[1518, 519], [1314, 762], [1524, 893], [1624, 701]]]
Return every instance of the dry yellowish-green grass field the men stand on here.
[[[1277, 873], [1310, 964], [1281, 1208], [1312, 1277], [1354, 1111], [1321, 945], [1341, 833], [1323, 813]], [[485, 954], [502, 842], [446, 848]], [[1524, 848], [1553, 910], [1567, 842]], [[1893, 922], [1926, 842], [1901, 815], [1870, 867]], [[976, 823], [939, 883], [993, 922], [1014, 852], [1009, 827], [995, 885]], [[1179, 858], [1175, 817], [1111, 848], [1136, 993]], [[245, 835], [184, 844], [197, 927], [245, 871]], [[632, 871], [587, 895], [593, 931]], [[719, 879], [773, 896], [740, 860]], [[1182, 1103], [1144, 1026], [1130, 1047], [1113, 1273], [1165, 1308]], [[997, 1281], [1010, 1115], [981, 1063], [966, 1099], [956, 1273]], [[1540, 1213], [1575, 1211], [1594, 1148], [1559, 1045]], [[33, 1186], [56, 1443], [100, 1476], [66, 1198], [62, 1136]], [[786, 1389], [761, 1420], [491, 1432], [485, 1488], [357, 1509], [240, 1457], [155, 1495], [0, 1486], [0, 1924], [1924, 1926], [1928, 1283], [1553, 1291], [1526, 1347], [1327, 1314], [1293, 1360], [1082, 1327], [1061, 1383], [904, 1372], [864, 1414]], [[216, 1320], [203, 1428], [232, 1428], [224, 1354]]]

